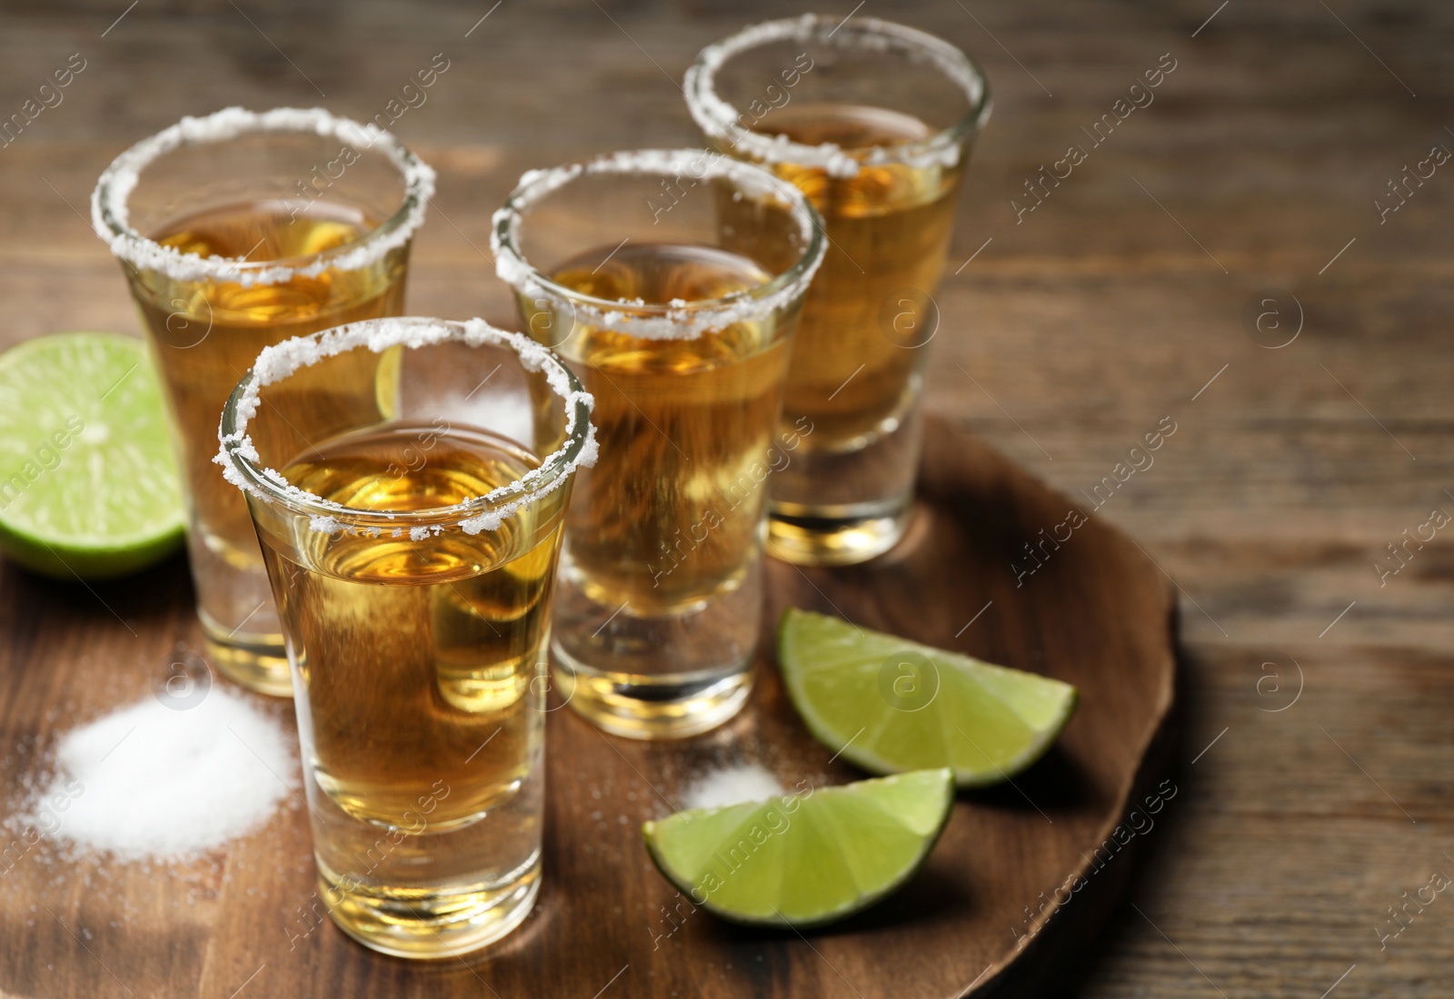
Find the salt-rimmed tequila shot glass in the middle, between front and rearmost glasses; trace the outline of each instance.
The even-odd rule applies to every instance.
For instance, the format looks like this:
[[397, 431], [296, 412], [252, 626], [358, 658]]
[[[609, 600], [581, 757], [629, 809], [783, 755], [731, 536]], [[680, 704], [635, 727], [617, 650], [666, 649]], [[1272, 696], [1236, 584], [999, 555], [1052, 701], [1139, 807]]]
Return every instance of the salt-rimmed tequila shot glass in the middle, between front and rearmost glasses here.
[[499, 274], [596, 399], [553, 639], [573, 709], [622, 736], [704, 732], [752, 687], [788, 348], [823, 257], [807, 199], [707, 150], [532, 171], [494, 215]]

